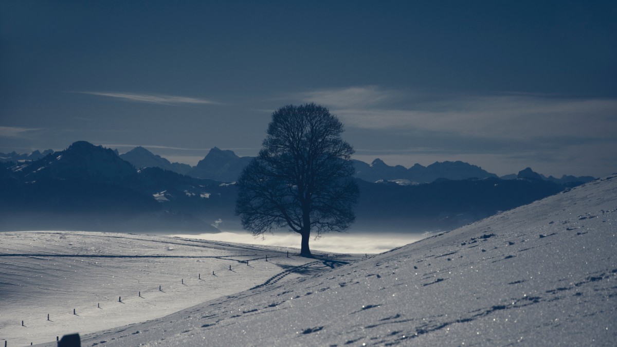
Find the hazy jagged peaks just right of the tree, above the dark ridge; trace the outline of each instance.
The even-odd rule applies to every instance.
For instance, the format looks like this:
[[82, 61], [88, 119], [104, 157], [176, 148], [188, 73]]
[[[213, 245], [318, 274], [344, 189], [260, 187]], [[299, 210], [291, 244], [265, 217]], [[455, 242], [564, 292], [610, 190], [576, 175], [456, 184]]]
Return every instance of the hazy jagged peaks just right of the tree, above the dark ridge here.
[[371, 164], [354, 160], [354, 167], [356, 177], [368, 182], [405, 180], [407, 182], [430, 183], [437, 178], [464, 180], [466, 178], [497, 177], [497, 175], [491, 174], [481, 167], [462, 161], [434, 162], [427, 167], [415, 164], [406, 169], [402, 165], [387, 165], [381, 159], [375, 159]]

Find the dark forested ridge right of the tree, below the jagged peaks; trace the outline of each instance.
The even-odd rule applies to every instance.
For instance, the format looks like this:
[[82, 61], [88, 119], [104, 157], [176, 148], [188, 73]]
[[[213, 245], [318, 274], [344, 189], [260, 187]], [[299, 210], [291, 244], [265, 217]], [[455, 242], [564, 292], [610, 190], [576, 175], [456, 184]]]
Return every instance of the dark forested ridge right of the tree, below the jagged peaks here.
[[450, 230], [564, 190], [541, 180], [439, 179], [422, 185], [357, 180], [352, 230], [422, 233]]

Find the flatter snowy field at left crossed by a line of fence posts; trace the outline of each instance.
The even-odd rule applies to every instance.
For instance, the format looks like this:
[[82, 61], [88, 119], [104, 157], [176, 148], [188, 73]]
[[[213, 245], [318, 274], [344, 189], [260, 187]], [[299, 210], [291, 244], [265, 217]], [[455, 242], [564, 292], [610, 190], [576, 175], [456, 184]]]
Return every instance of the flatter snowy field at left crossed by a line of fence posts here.
[[118, 233], [0, 233], [0, 343], [25, 346], [143, 322], [275, 276], [329, 269], [287, 251]]

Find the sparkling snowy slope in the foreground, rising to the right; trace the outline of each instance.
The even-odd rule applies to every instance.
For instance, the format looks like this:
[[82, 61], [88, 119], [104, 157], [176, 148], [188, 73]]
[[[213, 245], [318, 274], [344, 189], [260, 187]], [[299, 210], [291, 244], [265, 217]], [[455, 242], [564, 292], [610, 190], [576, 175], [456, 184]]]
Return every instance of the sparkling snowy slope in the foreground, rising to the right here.
[[614, 345], [616, 217], [617, 177], [604, 178], [83, 346]]

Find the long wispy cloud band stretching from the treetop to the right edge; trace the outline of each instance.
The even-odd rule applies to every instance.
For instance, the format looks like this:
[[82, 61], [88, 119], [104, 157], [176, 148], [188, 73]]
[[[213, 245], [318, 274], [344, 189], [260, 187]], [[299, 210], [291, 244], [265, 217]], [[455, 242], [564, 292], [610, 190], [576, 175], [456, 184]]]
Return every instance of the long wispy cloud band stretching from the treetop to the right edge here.
[[540, 142], [617, 136], [617, 99], [526, 93], [440, 96], [376, 86], [317, 90], [297, 97], [331, 107], [348, 127], [370, 130]]

